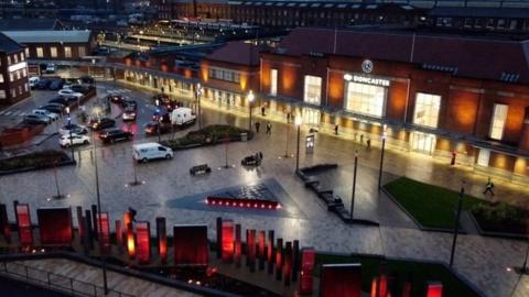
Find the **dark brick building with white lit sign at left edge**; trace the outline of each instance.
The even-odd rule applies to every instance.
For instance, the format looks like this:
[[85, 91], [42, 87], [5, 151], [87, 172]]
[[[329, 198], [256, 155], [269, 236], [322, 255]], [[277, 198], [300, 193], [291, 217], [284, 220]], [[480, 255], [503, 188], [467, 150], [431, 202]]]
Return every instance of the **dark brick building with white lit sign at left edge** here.
[[0, 33], [0, 105], [30, 96], [24, 47]]

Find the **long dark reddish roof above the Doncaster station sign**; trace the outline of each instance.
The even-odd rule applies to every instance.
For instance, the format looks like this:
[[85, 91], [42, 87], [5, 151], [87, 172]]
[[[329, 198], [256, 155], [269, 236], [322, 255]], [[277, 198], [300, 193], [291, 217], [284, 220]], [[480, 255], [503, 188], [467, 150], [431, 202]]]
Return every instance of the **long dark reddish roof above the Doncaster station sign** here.
[[299, 28], [283, 38], [277, 53], [413, 63], [462, 77], [529, 82], [529, 41]]

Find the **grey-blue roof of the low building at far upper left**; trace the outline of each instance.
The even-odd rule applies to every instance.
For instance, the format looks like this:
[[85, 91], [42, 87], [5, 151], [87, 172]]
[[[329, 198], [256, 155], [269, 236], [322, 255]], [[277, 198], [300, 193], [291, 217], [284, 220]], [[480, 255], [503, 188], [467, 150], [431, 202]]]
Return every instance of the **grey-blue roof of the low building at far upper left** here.
[[86, 43], [90, 41], [91, 31], [4, 31], [18, 43]]

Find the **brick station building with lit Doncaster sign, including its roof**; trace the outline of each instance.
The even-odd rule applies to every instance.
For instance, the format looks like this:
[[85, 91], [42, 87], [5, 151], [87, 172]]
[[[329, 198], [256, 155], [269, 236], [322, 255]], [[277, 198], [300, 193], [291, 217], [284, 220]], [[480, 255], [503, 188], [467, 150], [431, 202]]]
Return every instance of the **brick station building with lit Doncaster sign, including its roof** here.
[[527, 182], [528, 55], [490, 37], [296, 29], [261, 54], [261, 94], [307, 124]]

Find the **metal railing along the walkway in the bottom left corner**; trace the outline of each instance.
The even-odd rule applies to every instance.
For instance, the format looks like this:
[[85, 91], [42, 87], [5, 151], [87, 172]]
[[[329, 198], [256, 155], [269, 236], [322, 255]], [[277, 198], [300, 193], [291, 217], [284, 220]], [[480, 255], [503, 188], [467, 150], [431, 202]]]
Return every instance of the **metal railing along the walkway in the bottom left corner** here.
[[108, 289], [105, 295], [102, 286], [80, 282], [75, 278], [34, 268], [24, 264], [13, 262], [2, 262], [0, 273], [18, 280], [26, 280], [41, 287], [72, 294], [73, 296], [116, 296], [133, 297], [133, 295]]

